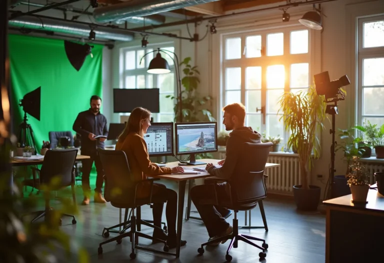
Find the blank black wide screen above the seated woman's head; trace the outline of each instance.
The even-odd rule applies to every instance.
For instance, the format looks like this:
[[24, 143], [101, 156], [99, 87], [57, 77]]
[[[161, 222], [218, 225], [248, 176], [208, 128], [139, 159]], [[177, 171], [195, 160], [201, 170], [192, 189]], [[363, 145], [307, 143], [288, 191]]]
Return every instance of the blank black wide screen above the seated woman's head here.
[[136, 107], [158, 113], [159, 89], [113, 89], [113, 112], [132, 112]]

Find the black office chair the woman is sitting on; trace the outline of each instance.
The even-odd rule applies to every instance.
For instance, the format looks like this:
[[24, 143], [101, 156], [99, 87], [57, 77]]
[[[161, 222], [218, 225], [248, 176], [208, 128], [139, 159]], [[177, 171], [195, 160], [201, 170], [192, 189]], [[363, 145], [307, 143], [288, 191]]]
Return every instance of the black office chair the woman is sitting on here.
[[[152, 203], [152, 186], [153, 181], [157, 181], [159, 179], [151, 178], [146, 180], [141, 180], [138, 182], [134, 182], [133, 178], [130, 174], [129, 164], [128, 160], [126, 158], [126, 155], [123, 151], [116, 151], [116, 150], [103, 150], [101, 148], [97, 148], [98, 154], [100, 156], [101, 164], [104, 169], [104, 179], [105, 179], [105, 187], [104, 187], [104, 198], [106, 201], [110, 202], [112, 206], [125, 209], [125, 216], [124, 216], [124, 222], [118, 225], [115, 225], [114, 227], [123, 226], [124, 231], [128, 228], [130, 229], [129, 232], [121, 233], [113, 238], [110, 238], [104, 242], [101, 242], [98, 247], [98, 254], [102, 253], [102, 247], [101, 245], [116, 241], [118, 244], [122, 242], [122, 238], [129, 236], [130, 241], [132, 243], [132, 252], [130, 253], [130, 258], [135, 258], [135, 248], [152, 251], [152, 252], [160, 252], [160, 253], [168, 253], [169, 247], [166, 245], [165, 240], [153, 238], [150, 235], [137, 232], [136, 226], [137, 224], [143, 224], [152, 228], [158, 228], [161, 230], [160, 227], [154, 226], [152, 224], [149, 224], [146, 220], [142, 220], [140, 218], [136, 219], [136, 216], [134, 215], [135, 209], [145, 205]], [[151, 185], [151, 190], [148, 198], [136, 198], [136, 189], [137, 186], [141, 183], [149, 182]], [[128, 221], [128, 212], [127, 210], [130, 209], [130, 220]], [[163, 250], [156, 250], [149, 247], [139, 246], [138, 245], [138, 237], [144, 237], [151, 240], [156, 240], [159, 242], [164, 243]]]

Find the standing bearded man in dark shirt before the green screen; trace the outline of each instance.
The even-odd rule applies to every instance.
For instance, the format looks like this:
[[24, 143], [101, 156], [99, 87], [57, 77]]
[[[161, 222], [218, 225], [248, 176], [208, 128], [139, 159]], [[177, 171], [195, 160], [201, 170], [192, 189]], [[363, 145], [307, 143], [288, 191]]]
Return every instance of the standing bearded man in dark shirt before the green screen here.
[[81, 136], [81, 154], [90, 156], [90, 159], [82, 161], [81, 184], [84, 193], [84, 200], [82, 201], [83, 205], [89, 204], [89, 173], [92, 169], [93, 161], [97, 172], [96, 188], [94, 189], [94, 202], [106, 203], [101, 194], [101, 188], [104, 182], [104, 171], [96, 150], [97, 148], [104, 149], [104, 141], [106, 137], [95, 138], [100, 135], [108, 135], [106, 118], [100, 113], [100, 106], [101, 98], [93, 95], [90, 98], [90, 108], [86, 111], [80, 112], [73, 123], [73, 130]]

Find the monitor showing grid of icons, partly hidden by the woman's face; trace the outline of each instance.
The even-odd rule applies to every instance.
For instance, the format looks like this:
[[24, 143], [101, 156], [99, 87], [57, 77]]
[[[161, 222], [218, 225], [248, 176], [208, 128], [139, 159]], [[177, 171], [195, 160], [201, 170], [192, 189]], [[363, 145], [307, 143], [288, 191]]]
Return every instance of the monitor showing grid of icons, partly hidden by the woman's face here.
[[149, 156], [173, 156], [173, 122], [155, 122], [150, 125], [144, 134]]

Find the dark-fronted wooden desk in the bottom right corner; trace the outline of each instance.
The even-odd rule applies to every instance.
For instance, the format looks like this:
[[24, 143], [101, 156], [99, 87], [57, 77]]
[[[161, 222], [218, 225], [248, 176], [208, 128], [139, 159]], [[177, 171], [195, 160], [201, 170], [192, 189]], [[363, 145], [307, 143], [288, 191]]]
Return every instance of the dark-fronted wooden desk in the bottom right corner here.
[[326, 209], [325, 262], [384, 262], [384, 196], [369, 190], [367, 204], [352, 195], [323, 201]]

